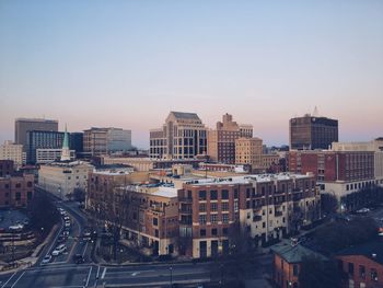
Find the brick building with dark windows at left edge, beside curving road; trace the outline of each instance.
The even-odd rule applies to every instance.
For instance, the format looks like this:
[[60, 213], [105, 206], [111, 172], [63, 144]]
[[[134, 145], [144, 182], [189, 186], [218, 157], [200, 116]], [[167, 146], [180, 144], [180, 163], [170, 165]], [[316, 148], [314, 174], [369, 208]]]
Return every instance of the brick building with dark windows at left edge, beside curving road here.
[[34, 175], [0, 176], [0, 208], [24, 208], [33, 195]]

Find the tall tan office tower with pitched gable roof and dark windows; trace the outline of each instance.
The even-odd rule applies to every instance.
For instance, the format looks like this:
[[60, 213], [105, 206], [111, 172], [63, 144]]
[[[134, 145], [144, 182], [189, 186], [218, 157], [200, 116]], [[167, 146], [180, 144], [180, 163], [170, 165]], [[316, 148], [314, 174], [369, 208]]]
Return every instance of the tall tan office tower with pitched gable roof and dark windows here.
[[207, 128], [196, 113], [171, 112], [162, 128], [150, 130], [150, 157], [190, 159], [207, 151]]

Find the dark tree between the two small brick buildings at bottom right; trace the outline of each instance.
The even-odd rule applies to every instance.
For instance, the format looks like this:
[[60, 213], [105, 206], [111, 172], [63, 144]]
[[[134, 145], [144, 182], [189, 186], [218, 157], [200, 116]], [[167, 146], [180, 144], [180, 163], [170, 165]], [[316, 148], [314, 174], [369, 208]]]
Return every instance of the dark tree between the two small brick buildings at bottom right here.
[[333, 261], [305, 257], [300, 266], [300, 288], [338, 288], [341, 284], [340, 273]]

